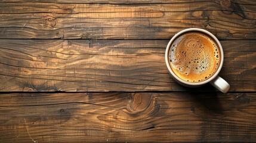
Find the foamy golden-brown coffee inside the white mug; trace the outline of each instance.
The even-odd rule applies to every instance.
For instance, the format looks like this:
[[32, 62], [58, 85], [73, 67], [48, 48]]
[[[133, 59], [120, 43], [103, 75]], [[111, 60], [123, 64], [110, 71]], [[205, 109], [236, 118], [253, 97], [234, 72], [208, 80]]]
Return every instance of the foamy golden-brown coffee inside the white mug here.
[[170, 45], [168, 60], [171, 70], [187, 82], [202, 82], [211, 77], [221, 63], [220, 48], [205, 33], [187, 32]]

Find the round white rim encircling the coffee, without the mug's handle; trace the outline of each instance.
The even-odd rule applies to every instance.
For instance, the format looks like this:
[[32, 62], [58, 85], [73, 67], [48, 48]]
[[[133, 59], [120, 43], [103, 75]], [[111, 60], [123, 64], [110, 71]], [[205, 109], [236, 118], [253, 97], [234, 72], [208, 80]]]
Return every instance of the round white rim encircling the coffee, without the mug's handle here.
[[[172, 71], [171, 69], [171, 66], [169, 65], [169, 60], [168, 60], [168, 55], [169, 55], [169, 49], [170, 49], [170, 46], [171, 46], [171, 43], [174, 42], [174, 40], [182, 35], [183, 33], [185, 32], [191, 32], [191, 31], [196, 31], [196, 32], [202, 32], [202, 33], [206, 33], [206, 35], [210, 36], [212, 39], [215, 40], [215, 42], [218, 44], [218, 47], [220, 48], [220, 54], [221, 54], [221, 61], [220, 61], [220, 65], [218, 66], [218, 70], [214, 73], [214, 75], [212, 75], [211, 77], [209, 77], [209, 79], [206, 79], [206, 80], [203, 80], [202, 82], [187, 82], [183, 79], [181, 79], [180, 77], [178, 77], [174, 71]], [[220, 73], [220, 70], [223, 66], [223, 60], [224, 59], [224, 54], [223, 54], [223, 48], [221, 46], [221, 43], [220, 41], [218, 41], [218, 39], [211, 33], [211, 32], [208, 32], [207, 30], [205, 29], [199, 29], [199, 28], [189, 28], [189, 29], [184, 29], [184, 30], [181, 30], [180, 32], [176, 33], [172, 38], [171, 40], [169, 41], [168, 45], [166, 46], [166, 50], [165, 50], [165, 63], [166, 63], [166, 66], [169, 70], [169, 73], [171, 73], [171, 76], [174, 77], [174, 79], [178, 80], [178, 82], [181, 82], [185, 85], [191, 85], [191, 86], [199, 86], [199, 85], [204, 85], [205, 83], [208, 83], [210, 82], [211, 80], [215, 79], [215, 77], [217, 77], [218, 73]]]

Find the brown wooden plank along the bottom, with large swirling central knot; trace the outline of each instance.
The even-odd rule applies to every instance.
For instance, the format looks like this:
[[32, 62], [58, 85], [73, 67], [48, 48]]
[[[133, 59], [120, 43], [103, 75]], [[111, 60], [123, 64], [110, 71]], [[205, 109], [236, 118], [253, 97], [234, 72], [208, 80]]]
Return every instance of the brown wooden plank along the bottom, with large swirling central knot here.
[[256, 94], [1, 94], [0, 142], [254, 142]]

